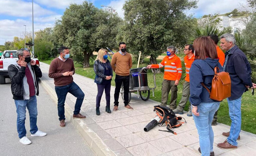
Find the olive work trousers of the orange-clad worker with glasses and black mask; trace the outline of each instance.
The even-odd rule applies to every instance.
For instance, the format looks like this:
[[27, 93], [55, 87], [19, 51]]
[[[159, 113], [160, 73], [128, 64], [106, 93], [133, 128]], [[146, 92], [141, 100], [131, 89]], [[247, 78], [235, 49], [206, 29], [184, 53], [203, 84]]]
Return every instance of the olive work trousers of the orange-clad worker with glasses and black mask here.
[[[190, 95], [189, 82], [184, 81], [183, 89], [182, 89], [182, 97], [181, 97], [180, 103], [178, 105], [178, 109], [180, 109], [182, 111], [184, 110], [184, 108], [186, 106], [186, 103], [187, 103], [187, 100], [189, 98], [189, 95]], [[191, 105], [190, 104], [189, 104], [188, 110], [191, 110]]]

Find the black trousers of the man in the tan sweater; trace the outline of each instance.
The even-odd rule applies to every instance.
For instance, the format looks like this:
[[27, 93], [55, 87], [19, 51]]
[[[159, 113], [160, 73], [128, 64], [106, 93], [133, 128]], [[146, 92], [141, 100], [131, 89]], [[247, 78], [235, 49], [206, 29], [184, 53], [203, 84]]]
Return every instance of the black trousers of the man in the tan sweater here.
[[118, 106], [119, 102], [119, 93], [122, 86], [122, 83], [124, 85], [124, 106], [128, 105], [129, 100], [129, 85], [130, 85], [130, 75], [128, 76], [120, 76], [115, 75], [115, 106]]

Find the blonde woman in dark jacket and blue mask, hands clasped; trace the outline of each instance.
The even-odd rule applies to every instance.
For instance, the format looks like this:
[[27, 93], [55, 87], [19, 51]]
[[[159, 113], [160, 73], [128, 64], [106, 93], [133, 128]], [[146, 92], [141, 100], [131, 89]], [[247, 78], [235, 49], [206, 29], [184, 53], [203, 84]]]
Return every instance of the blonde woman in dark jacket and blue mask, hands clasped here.
[[110, 110], [110, 88], [113, 76], [113, 70], [110, 61], [107, 59], [107, 50], [100, 49], [98, 56], [94, 61], [93, 69], [96, 74], [94, 82], [97, 83], [98, 94], [96, 98], [96, 115], [100, 115], [100, 103], [103, 91], [105, 89], [106, 95], [106, 112], [111, 113]]

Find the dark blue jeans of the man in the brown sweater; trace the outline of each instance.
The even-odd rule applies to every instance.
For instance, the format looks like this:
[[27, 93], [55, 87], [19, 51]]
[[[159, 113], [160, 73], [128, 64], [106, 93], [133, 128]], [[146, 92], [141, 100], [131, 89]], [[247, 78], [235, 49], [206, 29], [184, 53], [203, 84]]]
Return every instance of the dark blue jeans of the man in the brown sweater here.
[[75, 103], [74, 114], [77, 115], [80, 112], [83, 103], [84, 93], [75, 82], [72, 82], [66, 86], [55, 86], [55, 91], [58, 97], [59, 120], [65, 120], [64, 103], [68, 93], [74, 95], [77, 98]]

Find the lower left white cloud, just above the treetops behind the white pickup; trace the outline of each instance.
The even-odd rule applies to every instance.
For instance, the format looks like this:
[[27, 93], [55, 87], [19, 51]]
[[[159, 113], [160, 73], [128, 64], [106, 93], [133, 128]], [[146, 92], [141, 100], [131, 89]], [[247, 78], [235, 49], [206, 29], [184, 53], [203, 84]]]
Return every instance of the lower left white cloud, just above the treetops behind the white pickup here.
[[[14, 36], [19, 36], [25, 32], [32, 33], [32, 21], [16, 19], [9, 20], [3, 19], [0, 20], [0, 45], [3, 45], [5, 41], [12, 41]], [[46, 27], [53, 27], [54, 23], [34, 23], [34, 32], [44, 29]]]

